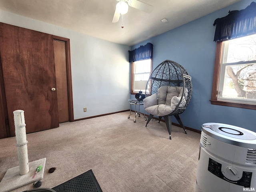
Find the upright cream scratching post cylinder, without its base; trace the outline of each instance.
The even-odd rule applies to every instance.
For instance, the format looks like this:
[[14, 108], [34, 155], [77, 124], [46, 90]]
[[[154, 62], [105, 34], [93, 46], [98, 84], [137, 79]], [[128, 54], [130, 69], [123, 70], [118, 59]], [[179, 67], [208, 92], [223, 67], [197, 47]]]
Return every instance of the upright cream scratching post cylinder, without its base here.
[[20, 175], [27, 174], [29, 172], [28, 166], [28, 147], [26, 140], [26, 124], [24, 118], [23, 110], [15, 110], [14, 114], [14, 124], [15, 124], [15, 134], [17, 141], [17, 150], [18, 150], [18, 160], [19, 160], [19, 169]]

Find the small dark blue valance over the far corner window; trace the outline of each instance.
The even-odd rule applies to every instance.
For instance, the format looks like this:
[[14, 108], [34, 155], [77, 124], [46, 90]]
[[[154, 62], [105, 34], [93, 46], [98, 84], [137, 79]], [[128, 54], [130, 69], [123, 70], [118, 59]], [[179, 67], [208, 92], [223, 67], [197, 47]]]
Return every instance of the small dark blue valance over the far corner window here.
[[147, 43], [132, 51], [129, 51], [129, 62], [151, 59], [153, 56], [153, 44]]

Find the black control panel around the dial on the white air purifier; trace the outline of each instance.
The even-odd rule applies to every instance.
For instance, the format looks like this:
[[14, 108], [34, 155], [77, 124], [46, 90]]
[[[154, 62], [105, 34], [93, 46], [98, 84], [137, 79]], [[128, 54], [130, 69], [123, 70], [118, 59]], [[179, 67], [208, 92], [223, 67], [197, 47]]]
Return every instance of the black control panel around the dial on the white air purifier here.
[[[225, 170], [225, 171], [224, 171]], [[244, 187], [250, 187], [251, 186], [251, 180], [252, 180], [252, 172], [242, 171], [242, 176], [239, 176], [238, 170], [232, 166], [227, 166], [226, 169], [222, 168], [222, 164], [216, 162], [215, 160], [209, 158], [208, 163], [208, 171], [214, 174], [215, 176], [230, 182], [232, 184], [244, 186]], [[224, 176], [224, 174], [227, 174], [229, 177]], [[230, 180], [228, 178], [238, 178], [238, 180]]]

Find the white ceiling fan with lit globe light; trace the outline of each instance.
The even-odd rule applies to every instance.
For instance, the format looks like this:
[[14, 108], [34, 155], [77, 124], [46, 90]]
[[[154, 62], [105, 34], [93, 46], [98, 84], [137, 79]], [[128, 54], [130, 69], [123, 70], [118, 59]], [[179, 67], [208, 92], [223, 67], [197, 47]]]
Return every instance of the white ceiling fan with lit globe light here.
[[126, 14], [128, 12], [129, 6], [136, 8], [138, 10], [142, 10], [146, 13], [150, 13], [153, 10], [152, 5], [146, 4], [138, 0], [116, 0], [116, 1], [118, 1], [118, 3], [116, 4], [116, 10], [114, 13], [112, 23], [118, 22], [120, 15]]

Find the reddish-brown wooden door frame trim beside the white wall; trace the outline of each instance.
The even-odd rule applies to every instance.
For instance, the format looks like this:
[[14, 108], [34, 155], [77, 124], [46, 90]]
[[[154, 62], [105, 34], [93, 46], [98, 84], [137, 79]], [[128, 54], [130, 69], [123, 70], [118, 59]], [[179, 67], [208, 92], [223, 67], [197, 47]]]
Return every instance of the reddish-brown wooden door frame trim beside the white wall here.
[[73, 111], [73, 93], [72, 93], [72, 78], [71, 78], [70, 39], [53, 35], [52, 42], [54, 40], [64, 42], [66, 47], [66, 70], [67, 70], [67, 80], [68, 80], [68, 114], [69, 114], [69, 121], [73, 122], [74, 111]]

